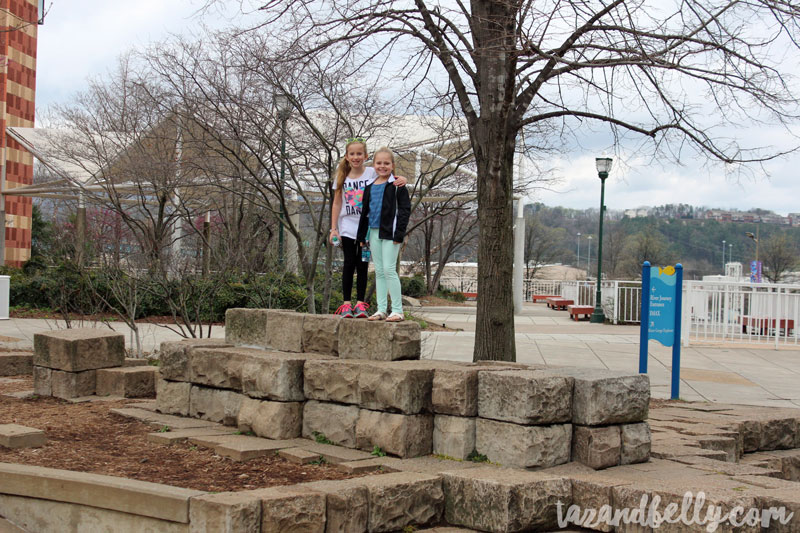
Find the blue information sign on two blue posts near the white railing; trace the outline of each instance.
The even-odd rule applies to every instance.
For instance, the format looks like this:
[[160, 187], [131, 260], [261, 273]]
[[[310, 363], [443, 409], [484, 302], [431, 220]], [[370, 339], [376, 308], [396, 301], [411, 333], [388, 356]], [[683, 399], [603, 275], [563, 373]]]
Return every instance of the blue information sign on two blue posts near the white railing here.
[[672, 346], [672, 394], [678, 399], [681, 382], [681, 297], [683, 266], [642, 265], [642, 309], [639, 338], [639, 372], [647, 374], [647, 346], [650, 339]]

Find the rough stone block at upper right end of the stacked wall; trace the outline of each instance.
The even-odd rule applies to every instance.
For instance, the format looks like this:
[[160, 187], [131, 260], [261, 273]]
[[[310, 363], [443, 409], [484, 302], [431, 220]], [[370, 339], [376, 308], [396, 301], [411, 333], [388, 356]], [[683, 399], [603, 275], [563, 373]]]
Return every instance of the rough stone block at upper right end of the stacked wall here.
[[572, 367], [554, 368], [552, 372], [575, 380], [574, 424], [627, 424], [647, 418], [650, 378], [646, 374]]

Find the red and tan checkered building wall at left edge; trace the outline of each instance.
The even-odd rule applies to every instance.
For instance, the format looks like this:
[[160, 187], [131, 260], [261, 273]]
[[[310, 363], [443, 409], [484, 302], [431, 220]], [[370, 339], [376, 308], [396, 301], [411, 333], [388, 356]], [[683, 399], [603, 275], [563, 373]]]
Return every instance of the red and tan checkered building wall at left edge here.
[[[37, 0], [0, 0], [0, 141], [6, 147], [6, 189], [33, 183], [33, 156], [5, 131], [6, 126], [34, 125], [37, 4]], [[31, 255], [33, 201], [8, 196], [5, 208], [5, 264], [21, 266]]]

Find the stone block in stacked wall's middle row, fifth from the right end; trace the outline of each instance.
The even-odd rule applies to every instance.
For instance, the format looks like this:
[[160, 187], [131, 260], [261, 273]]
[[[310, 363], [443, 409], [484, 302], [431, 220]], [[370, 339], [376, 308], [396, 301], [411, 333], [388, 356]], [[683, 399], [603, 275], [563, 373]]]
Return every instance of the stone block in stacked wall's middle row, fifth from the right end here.
[[362, 361], [309, 360], [303, 367], [303, 391], [309, 400], [358, 405]]

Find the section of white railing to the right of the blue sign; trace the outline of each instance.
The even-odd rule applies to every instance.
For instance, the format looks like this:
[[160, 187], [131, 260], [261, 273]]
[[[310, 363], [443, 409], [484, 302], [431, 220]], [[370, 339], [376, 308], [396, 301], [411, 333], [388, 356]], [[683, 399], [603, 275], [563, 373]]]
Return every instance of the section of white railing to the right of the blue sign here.
[[800, 285], [683, 283], [682, 339], [797, 345]]

